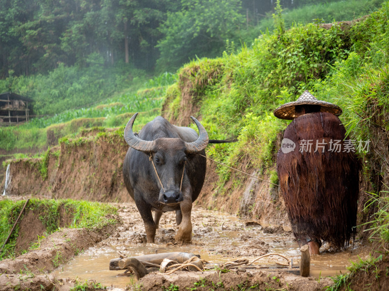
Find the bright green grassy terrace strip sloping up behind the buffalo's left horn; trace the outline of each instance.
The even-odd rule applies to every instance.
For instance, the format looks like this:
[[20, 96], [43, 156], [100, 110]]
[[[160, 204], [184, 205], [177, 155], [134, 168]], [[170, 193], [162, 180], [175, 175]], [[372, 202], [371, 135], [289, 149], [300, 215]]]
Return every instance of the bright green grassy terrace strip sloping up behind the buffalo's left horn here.
[[52, 117], [32, 119], [24, 125], [0, 128], [0, 149], [42, 151], [56, 145], [59, 138], [75, 136], [83, 129], [122, 127], [136, 112], [141, 113], [137, 124], [144, 125], [160, 114], [163, 97], [176, 77], [163, 73], [144, 82], [142, 89], [123, 90], [94, 107], [67, 110]]

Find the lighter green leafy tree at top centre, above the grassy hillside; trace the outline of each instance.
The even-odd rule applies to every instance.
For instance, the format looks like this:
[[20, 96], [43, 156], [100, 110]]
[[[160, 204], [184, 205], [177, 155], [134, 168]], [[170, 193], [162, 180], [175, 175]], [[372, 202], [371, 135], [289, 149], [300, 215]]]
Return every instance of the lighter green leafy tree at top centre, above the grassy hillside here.
[[239, 39], [245, 17], [239, 0], [181, 0], [178, 12], [168, 12], [159, 30], [159, 70], [176, 70], [191, 58], [216, 57], [226, 41]]

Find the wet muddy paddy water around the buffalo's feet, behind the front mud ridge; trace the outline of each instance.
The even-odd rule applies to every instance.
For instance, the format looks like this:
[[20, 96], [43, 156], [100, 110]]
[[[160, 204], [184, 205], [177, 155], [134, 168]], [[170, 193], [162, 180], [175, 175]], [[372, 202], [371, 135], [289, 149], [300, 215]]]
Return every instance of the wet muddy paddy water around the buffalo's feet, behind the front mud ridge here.
[[[94, 279], [112, 290], [123, 290], [126, 284], [136, 281], [134, 277], [118, 276], [123, 271], [109, 271], [109, 260], [118, 258], [117, 251], [129, 257], [154, 254], [156, 252], [190, 252], [199, 254], [211, 263], [223, 263], [235, 259], [253, 259], [266, 253], [280, 253], [292, 258], [295, 263], [300, 259], [299, 245], [291, 232], [282, 229], [269, 233], [270, 227], [245, 226], [245, 222], [226, 213], [194, 209], [192, 213], [193, 239], [191, 244], [172, 245], [175, 234], [175, 215], [165, 213], [160, 221], [156, 235], [157, 243], [146, 244], [143, 223], [134, 205], [126, 205], [119, 211], [124, 226], [113, 237], [85, 250], [68, 264], [53, 272], [60, 278]], [[265, 224], [264, 222], [262, 222]], [[351, 261], [364, 259], [367, 250], [354, 247], [353, 252], [324, 252], [311, 258], [311, 275], [335, 275], [347, 272]], [[257, 263], [264, 267], [277, 267], [275, 261], [284, 259], [265, 258]]]

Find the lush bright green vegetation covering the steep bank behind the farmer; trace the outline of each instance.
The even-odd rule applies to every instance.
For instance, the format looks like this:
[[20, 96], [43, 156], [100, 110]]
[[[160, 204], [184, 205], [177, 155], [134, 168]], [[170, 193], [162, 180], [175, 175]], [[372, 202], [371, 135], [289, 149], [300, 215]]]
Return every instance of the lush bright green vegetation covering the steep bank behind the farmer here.
[[[366, 208], [358, 220], [373, 231], [371, 238], [388, 244], [388, 20], [389, 1], [352, 24], [294, 25], [285, 30], [283, 17], [276, 17], [275, 32], [256, 39], [252, 48], [182, 67], [163, 114], [180, 121], [178, 116], [188, 110], [181, 105], [191, 104], [198, 109], [191, 114], [202, 116], [212, 137], [238, 139], [209, 149], [208, 155], [239, 169], [261, 168], [266, 173], [275, 162], [279, 137], [288, 124], [273, 116], [275, 108], [296, 100], [304, 90], [339, 105], [344, 112], [340, 119], [356, 146], [359, 141], [370, 142], [369, 150], [358, 151], [364, 161], [362, 187], [366, 191], [360, 199]], [[190, 124], [189, 118], [182, 122]], [[225, 167], [218, 171], [221, 191], [217, 195], [223, 195], [229, 190], [223, 186], [231, 171]], [[267, 174], [275, 178], [274, 173]], [[376, 216], [369, 216], [377, 210]], [[378, 261], [385, 258], [387, 251]], [[368, 272], [378, 261], [363, 262], [358, 268]], [[358, 268], [341, 276], [337, 287], [365, 272]]]

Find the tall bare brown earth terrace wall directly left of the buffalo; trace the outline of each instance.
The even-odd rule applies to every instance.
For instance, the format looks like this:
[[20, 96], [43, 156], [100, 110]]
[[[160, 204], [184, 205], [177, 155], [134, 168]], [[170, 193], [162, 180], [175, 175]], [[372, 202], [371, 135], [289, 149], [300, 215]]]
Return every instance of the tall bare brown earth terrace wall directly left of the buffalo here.
[[[10, 163], [8, 195], [71, 198], [90, 201], [129, 201], [123, 186], [122, 164], [128, 146], [116, 132], [65, 140], [43, 159]], [[2, 187], [4, 187], [4, 179]]]

